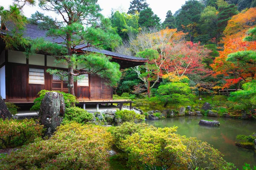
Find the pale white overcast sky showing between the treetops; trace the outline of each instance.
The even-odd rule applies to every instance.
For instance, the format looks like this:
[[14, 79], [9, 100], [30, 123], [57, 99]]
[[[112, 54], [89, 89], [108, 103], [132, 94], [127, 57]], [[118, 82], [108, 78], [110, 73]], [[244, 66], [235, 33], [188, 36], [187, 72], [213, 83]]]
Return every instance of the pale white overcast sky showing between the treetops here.
[[[99, 6], [102, 8], [102, 14], [105, 17], [111, 15], [111, 9], [122, 9], [124, 12], [128, 11], [130, 7], [131, 0], [98, 0]], [[181, 6], [185, 3], [186, 0], [147, 0], [149, 7], [152, 8], [154, 14], [157, 14], [163, 22], [166, 18], [166, 13], [168, 10], [172, 11], [172, 14], [175, 13]], [[12, 0], [0, 0], [0, 6], [5, 8], [12, 4]], [[25, 6], [23, 12], [26, 17], [30, 17], [31, 14], [35, 11], [40, 11], [37, 7]], [[48, 14], [51, 15], [51, 14]], [[53, 17], [53, 16], [52, 16]]]

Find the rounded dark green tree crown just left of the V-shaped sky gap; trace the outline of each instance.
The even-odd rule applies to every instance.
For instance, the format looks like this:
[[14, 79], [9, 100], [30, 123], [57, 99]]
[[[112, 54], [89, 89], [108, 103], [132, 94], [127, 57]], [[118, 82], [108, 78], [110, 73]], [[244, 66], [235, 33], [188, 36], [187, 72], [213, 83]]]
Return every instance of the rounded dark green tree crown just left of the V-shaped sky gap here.
[[145, 28], [160, 28], [160, 18], [152, 11], [151, 8], [145, 8], [140, 12], [139, 25]]

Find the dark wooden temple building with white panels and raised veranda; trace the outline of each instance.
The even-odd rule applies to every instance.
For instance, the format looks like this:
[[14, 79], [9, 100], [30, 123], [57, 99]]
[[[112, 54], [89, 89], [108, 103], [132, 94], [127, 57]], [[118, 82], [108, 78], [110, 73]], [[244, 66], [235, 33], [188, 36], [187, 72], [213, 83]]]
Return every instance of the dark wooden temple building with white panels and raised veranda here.
[[[0, 30], [2, 36], [6, 30]], [[45, 30], [41, 30], [37, 25], [27, 24], [24, 36], [28, 39], [45, 37]], [[121, 69], [144, 65], [147, 59], [137, 58], [118, 54], [111, 51], [99, 50], [96, 48], [85, 48], [84, 51], [101, 53], [112, 57], [112, 62], [119, 63]], [[33, 103], [38, 97], [38, 92], [45, 89], [51, 91], [68, 92], [67, 81], [58, 75], [51, 75], [46, 72], [47, 68], [67, 70], [66, 65], [55, 64], [55, 58], [45, 54], [36, 54], [26, 58], [23, 51], [5, 50], [2, 40], [0, 40], [0, 95], [6, 102], [15, 104]], [[107, 104], [130, 103], [128, 100], [113, 100], [113, 88], [105, 85], [105, 79], [96, 75], [84, 74], [83, 78], [75, 82], [75, 95], [81, 104]]]

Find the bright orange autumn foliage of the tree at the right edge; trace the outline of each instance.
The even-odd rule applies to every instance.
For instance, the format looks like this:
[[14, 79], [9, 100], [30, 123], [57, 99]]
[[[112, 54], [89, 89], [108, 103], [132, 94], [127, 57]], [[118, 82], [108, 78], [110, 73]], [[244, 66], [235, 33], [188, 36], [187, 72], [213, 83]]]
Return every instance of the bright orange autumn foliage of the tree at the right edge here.
[[227, 62], [228, 54], [253, 50], [256, 51], [256, 41], [246, 42], [243, 41], [245, 33], [249, 28], [256, 26], [256, 8], [250, 8], [233, 16], [229, 21], [224, 31], [225, 37], [223, 38], [224, 51], [220, 51], [220, 56], [215, 58], [214, 63], [211, 65], [216, 75], [224, 75], [226, 77], [232, 76], [234, 79], [227, 79], [224, 88], [236, 84], [239, 81], [246, 81], [250, 75], [244, 72], [243, 68], [238, 63]]

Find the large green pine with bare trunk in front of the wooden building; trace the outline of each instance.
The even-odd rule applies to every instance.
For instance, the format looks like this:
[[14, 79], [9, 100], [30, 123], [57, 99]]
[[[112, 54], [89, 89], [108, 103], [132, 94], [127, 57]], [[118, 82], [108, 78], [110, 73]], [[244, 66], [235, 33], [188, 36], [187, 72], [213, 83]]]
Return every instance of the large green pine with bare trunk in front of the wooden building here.
[[[110, 62], [110, 58], [104, 55], [82, 51], [99, 45], [113, 47], [121, 41], [109, 28], [108, 20], [99, 13], [101, 8], [97, 0], [42, 0], [39, 6], [44, 11], [54, 11], [61, 19], [53, 20], [39, 12], [32, 16], [34, 22], [43, 21], [41, 26], [49, 29], [48, 40], [54, 40], [37, 39], [32, 42], [29, 52], [52, 55], [57, 63], [65, 64], [68, 68], [68, 71], [47, 71], [68, 77], [68, 90], [73, 95], [74, 78], [82, 74], [97, 74], [108, 80], [110, 85], [116, 85], [121, 76], [119, 65]], [[105, 26], [105, 23], [108, 25]]]

